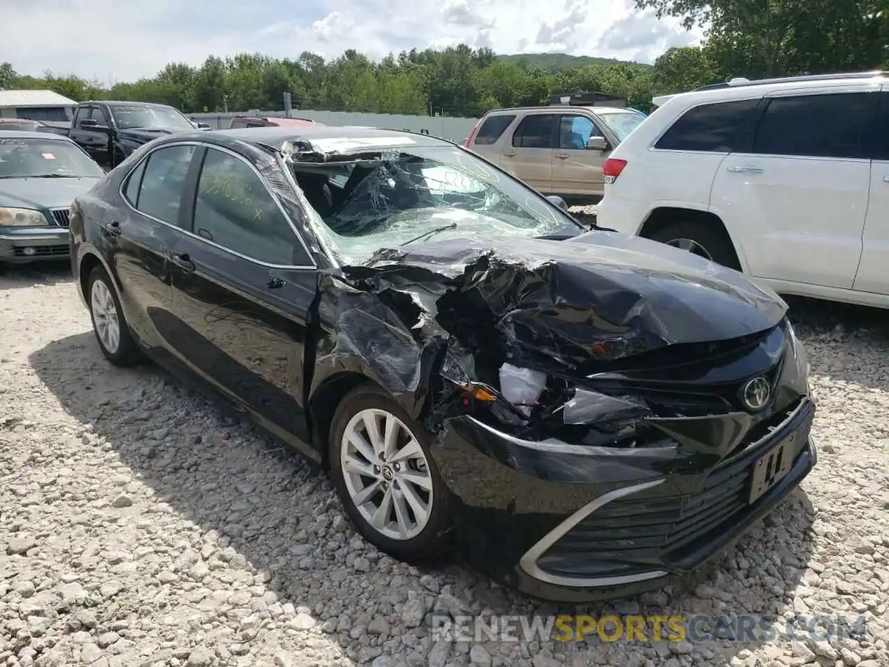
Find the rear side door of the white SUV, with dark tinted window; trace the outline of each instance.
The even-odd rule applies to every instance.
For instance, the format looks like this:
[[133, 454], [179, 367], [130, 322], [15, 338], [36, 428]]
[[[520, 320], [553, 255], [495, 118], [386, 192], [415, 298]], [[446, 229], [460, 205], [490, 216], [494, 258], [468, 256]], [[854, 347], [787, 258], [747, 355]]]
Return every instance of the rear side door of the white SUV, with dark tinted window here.
[[749, 273], [849, 289], [868, 206], [877, 92], [774, 92], [717, 169], [710, 207], [742, 237]]

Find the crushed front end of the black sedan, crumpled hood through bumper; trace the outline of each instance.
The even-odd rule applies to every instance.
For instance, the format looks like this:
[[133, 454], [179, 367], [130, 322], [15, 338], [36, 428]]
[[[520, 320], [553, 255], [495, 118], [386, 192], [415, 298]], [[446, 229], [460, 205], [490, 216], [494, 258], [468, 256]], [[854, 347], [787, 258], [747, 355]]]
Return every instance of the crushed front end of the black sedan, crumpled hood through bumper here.
[[[388, 384], [436, 435], [462, 559], [535, 597], [661, 587], [815, 463], [783, 301], [638, 240], [429, 244], [347, 271], [412, 341]], [[382, 377], [390, 351], [362, 356]]]

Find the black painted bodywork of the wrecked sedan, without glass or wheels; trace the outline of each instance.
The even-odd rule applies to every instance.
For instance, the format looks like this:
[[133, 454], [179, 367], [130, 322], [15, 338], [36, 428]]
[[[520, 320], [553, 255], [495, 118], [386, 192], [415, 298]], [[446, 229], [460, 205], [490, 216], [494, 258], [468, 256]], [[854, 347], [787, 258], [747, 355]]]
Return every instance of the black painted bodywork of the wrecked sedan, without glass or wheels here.
[[[294, 132], [276, 130], [282, 137]], [[234, 131], [180, 135], [152, 148], [194, 141], [244, 156], [267, 179], [316, 267], [272, 269], [222, 250], [185, 229], [191, 215], [188, 204], [172, 223], [135, 213], [118, 189], [146, 152], [140, 150], [76, 202], [72, 269], [84, 301], [84, 277], [101, 264], [115, 281], [125, 317], [149, 356], [174, 372], [207, 382], [260, 426], [316, 461], [324, 458], [322, 431], [332, 405], [362, 379], [386, 388], [436, 433], [433, 456], [456, 500], [455, 542], [461, 555], [486, 575], [532, 595], [574, 601], [661, 586], [741, 536], [811, 470], [815, 454], [808, 438], [812, 404], [807, 371], [805, 359], [795, 356], [797, 342], [783, 319], [786, 306], [757, 291], [740, 274], [610, 232], [590, 232], [573, 241], [517, 243], [503, 253], [467, 252], [466, 244], [458, 242], [418, 243], [410, 253], [382, 251], [367, 266], [335, 269], [323, 240], [307, 221], [286, 168], [268, 150], [246, 141], [248, 136]], [[254, 136], [267, 142], [264, 136]], [[187, 187], [193, 189], [195, 183], [192, 170]], [[189, 199], [193, 197], [183, 197], [183, 202]], [[549, 255], [561, 261], [549, 260]], [[578, 259], [584, 255], [596, 259], [584, 266]], [[620, 259], [609, 261], [608, 255]], [[499, 267], [499, 275], [489, 264]], [[597, 266], [605, 270], [597, 272]], [[543, 289], [554, 271], [561, 272], [559, 285], [567, 292]], [[571, 293], [597, 273], [605, 292], [588, 287]], [[525, 309], [519, 308], [498, 335], [505, 335], [527, 360], [571, 378], [581, 389], [583, 385], [619, 397], [628, 390], [679, 388], [682, 393], [704, 383], [716, 396], [707, 400], [733, 405], [732, 392], [739, 383], [771, 369], [776, 398], [757, 415], [735, 407], [715, 416], [654, 415], [645, 446], [635, 448], [590, 445], [571, 428], [553, 437], [539, 432], [547, 430], [546, 424], [534, 432], [491, 406], [467, 405], [465, 398], [463, 403], [455, 401], [461, 396], [453, 390], [456, 375], [447, 377], [453, 365], [448, 371], [445, 366], [450, 355], [465, 350], [447, 342], [440, 335], [442, 325], [421, 317], [415, 302], [405, 296], [418, 285], [432, 290], [440, 309], [442, 298], [453, 290], [474, 291], [465, 315], [479, 321], [487, 317], [483, 324], [504, 322], [503, 313], [498, 320], [497, 308], [512, 285], [509, 298], [524, 294], [525, 300], [519, 301]], [[677, 299], [676, 289], [682, 299]], [[490, 298], [486, 301], [485, 296]], [[600, 337], [612, 347], [602, 348], [610, 350], [602, 364], [605, 370], [588, 377], [589, 365], [573, 345], [580, 339], [570, 315], [580, 301], [590, 298], [601, 300], [588, 303], [588, 308], [596, 317], [602, 315], [600, 324], [609, 324], [611, 333]], [[560, 307], [565, 317], [559, 317]], [[608, 330], [593, 326], [595, 317], [592, 322], [589, 317], [588, 311], [587, 335]], [[415, 326], [421, 321], [425, 325]], [[711, 336], [718, 341], [734, 338], [737, 344], [726, 342], [714, 351], [708, 345]], [[743, 336], [749, 338], [737, 342]], [[541, 342], [549, 347], [544, 344], [544, 354], [534, 354], [533, 345]], [[566, 347], [566, 342], [571, 344]], [[568, 349], [572, 354], [559, 356]], [[663, 576], [576, 588], [547, 583], [519, 567], [535, 542], [589, 502], [620, 487], [650, 484], [632, 496], [640, 507], [667, 506], [677, 499], [690, 502], [695, 489], [720, 466], [738, 464], [742, 458], [746, 462], [776, 444], [779, 436], [760, 431], [780, 422], [794, 406], [799, 423], [784, 426], [801, 440], [794, 468], [768, 494], [738, 510], [730, 526], [699, 535], [694, 549], [686, 547], [682, 558], [648, 550], [645, 558], [636, 559], [628, 546], [612, 550], [605, 559], [615, 572], [647, 567]], [[595, 410], [588, 417], [595, 419]], [[785, 435], [781, 431], [780, 437]], [[627, 544], [633, 546], [634, 539], [629, 535]], [[579, 566], [571, 557], [570, 550], [562, 553], [559, 567], [576, 570]]]

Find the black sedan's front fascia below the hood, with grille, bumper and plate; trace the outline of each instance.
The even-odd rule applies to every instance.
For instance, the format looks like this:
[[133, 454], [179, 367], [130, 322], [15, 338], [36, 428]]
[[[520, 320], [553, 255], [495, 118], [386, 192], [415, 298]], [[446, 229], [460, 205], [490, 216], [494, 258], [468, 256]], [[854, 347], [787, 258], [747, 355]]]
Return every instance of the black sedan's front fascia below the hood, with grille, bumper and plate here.
[[530, 411], [506, 405], [504, 391], [521, 393], [516, 371], [499, 391], [454, 375], [462, 389], [436, 462], [460, 499], [461, 552], [485, 574], [578, 602], [658, 588], [717, 555], [812, 470], [814, 404], [786, 319], [612, 366], [523, 387]]

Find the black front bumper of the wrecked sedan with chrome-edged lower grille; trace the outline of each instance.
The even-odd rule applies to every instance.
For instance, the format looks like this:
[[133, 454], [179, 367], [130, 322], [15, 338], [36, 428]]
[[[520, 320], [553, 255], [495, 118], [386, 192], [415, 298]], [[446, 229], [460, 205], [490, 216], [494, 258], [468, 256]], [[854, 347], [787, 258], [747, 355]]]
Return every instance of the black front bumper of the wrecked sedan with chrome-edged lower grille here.
[[[583, 603], [661, 588], [718, 557], [813, 469], [813, 417], [802, 398], [765, 437], [709, 468], [641, 450], [585, 463], [577, 446], [520, 443], [463, 420], [436, 462], [457, 498], [463, 559], [533, 597]], [[749, 502], [754, 466], [778, 446], [792, 462]]]

